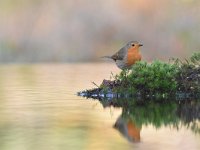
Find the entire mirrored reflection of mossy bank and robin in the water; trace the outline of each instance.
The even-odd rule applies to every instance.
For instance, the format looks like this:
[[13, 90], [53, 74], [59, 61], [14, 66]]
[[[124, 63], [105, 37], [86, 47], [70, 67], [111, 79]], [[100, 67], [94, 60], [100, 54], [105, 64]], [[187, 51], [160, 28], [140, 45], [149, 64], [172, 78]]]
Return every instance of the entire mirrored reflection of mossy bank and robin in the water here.
[[122, 107], [122, 114], [114, 128], [129, 141], [140, 141], [142, 126], [152, 125], [156, 129], [163, 126], [176, 130], [185, 127], [200, 135], [199, 101], [136, 101], [132, 99], [101, 100], [104, 107]]

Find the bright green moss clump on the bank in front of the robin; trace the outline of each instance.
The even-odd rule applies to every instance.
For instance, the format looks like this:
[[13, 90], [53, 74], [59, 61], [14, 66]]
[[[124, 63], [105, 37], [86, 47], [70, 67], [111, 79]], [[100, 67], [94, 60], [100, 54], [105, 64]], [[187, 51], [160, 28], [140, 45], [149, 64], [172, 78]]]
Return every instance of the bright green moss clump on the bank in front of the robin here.
[[176, 75], [179, 68], [175, 64], [161, 61], [137, 62], [131, 70], [123, 70], [116, 75], [121, 85], [114, 88], [115, 92], [140, 93], [142, 95], [163, 96], [175, 93], [177, 89]]

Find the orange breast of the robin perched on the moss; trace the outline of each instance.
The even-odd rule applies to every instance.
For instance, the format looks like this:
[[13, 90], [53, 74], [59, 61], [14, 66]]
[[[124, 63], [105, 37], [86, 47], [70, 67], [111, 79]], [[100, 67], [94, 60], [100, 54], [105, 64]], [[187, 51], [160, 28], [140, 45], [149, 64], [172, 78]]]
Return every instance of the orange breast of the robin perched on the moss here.
[[138, 47], [130, 48], [127, 54], [127, 65], [131, 66], [135, 64], [137, 61], [140, 61], [141, 58], [142, 57], [141, 57]]

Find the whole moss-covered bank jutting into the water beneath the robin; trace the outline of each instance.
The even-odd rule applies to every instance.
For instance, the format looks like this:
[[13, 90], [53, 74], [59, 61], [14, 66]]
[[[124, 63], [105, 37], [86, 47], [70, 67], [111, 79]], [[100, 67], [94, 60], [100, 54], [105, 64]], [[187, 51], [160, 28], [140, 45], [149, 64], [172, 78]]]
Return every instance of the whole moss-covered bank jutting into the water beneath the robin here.
[[130, 70], [123, 70], [113, 80], [104, 80], [99, 88], [79, 92], [93, 98], [142, 97], [170, 98], [199, 97], [200, 53], [187, 60], [171, 59], [168, 63], [137, 62]]

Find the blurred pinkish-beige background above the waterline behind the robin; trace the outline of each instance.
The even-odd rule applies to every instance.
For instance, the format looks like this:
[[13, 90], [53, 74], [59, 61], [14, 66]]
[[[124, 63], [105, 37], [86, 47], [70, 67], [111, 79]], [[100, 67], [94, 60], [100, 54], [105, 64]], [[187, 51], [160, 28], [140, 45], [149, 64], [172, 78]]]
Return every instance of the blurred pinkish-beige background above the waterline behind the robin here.
[[105, 61], [130, 40], [143, 59], [200, 50], [199, 0], [1, 0], [0, 62]]

